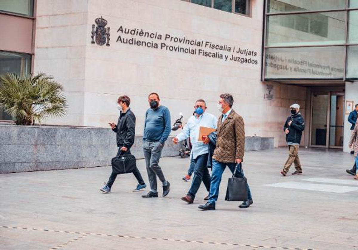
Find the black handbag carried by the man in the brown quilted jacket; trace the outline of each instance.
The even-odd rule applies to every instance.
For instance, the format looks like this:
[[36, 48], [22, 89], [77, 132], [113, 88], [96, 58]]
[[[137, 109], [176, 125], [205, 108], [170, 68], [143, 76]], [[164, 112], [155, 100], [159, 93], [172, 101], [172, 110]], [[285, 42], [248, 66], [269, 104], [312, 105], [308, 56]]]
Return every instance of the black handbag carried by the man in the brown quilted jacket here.
[[[235, 177], [237, 168], [240, 168], [242, 178]], [[225, 200], [227, 201], [245, 201], [247, 200], [247, 180], [242, 171], [242, 165], [237, 164], [232, 177], [227, 183]]]

